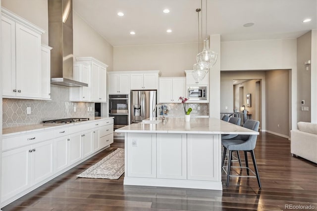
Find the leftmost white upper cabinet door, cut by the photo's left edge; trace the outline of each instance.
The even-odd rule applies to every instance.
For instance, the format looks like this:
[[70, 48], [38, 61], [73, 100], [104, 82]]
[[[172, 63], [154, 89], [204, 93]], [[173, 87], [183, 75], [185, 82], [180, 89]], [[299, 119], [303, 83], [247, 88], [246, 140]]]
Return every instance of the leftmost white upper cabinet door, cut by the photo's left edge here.
[[15, 96], [15, 23], [2, 16], [1, 21], [2, 95]]

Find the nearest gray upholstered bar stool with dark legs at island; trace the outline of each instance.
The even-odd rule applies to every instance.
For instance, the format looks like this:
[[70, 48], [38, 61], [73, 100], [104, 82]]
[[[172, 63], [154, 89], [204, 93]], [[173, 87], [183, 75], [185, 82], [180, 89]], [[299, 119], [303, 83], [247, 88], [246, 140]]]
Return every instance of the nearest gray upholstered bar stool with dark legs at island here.
[[[259, 124], [260, 124], [259, 121], [248, 119], [244, 123], [243, 127], [254, 130], [254, 131], [258, 131]], [[258, 138], [258, 135], [237, 135], [236, 137], [234, 137], [232, 139], [225, 139], [225, 140], [221, 141], [222, 145], [224, 147], [221, 166], [223, 166], [225, 154], [226, 154], [227, 150], [229, 150], [229, 160], [228, 160], [228, 170], [227, 170], [227, 186], [229, 186], [229, 179], [230, 179], [230, 176], [232, 176], [232, 175], [230, 175], [232, 152], [244, 151], [244, 156], [245, 156], [245, 160], [246, 160], [246, 167], [245, 168], [247, 169], [247, 174], [249, 175], [249, 170], [252, 171], [249, 168], [249, 164], [248, 164], [247, 152], [249, 152], [249, 153], [251, 153], [251, 157], [252, 157], [252, 161], [253, 161], [253, 165], [254, 165], [254, 169], [255, 169], [255, 175], [256, 175], [256, 176], [248, 176], [248, 177], [257, 177], [259, 187], [260, 188], [262, 187], [261, 181], [260, 181], [260, 176], [259, 176], [259, 171], [258, 171], [258, 166], [257, 166], [256, 158], [254, 155], [254, 151], [253, 151], [256, 147], [257, 138]]]

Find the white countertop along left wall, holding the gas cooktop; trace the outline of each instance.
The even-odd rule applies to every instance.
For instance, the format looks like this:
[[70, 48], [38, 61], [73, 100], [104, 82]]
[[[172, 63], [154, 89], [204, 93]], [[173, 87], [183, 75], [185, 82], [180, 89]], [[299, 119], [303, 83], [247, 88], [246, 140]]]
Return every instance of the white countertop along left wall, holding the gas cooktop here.
[[92, 121], [98, 121], [103, 119], [109, 119], [113, 117], [95, 117], [95, 119], [90, 119], [87, 121], [81, 121], [81, 122], [72, 122], [67, 124], [31, 124], [31, 125], [23, 125], [23, 126], [17, 126], [17, 127], [8, 127], [2, 129], [2, 137], [5, 136], [11, 136], [11, 135], [19, 135], [24, 133], [33, 133], [38, 131], [44, 131], [44, 130], [52, 130], [57, 129], [58, 127], [69, 127], [74, 124], [84, 124], [89, 123]]

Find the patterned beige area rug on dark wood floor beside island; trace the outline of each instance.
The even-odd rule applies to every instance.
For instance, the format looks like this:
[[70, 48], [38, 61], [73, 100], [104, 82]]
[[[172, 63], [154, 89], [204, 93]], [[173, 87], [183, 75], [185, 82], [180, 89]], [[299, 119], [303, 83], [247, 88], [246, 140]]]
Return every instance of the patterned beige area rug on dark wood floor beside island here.
[[78, 177], [118, 179], [124, 172], [124, 149], [118, 148]]

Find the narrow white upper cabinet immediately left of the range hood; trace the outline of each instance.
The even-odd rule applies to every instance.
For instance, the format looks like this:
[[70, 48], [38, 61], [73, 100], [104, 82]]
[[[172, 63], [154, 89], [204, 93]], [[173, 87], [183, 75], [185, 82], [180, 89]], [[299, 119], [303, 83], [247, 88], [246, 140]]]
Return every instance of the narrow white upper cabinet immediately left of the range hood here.
[[42, 44], [41, 48], [41, 98], [51, 99], [51, 50], [50, 46]]

